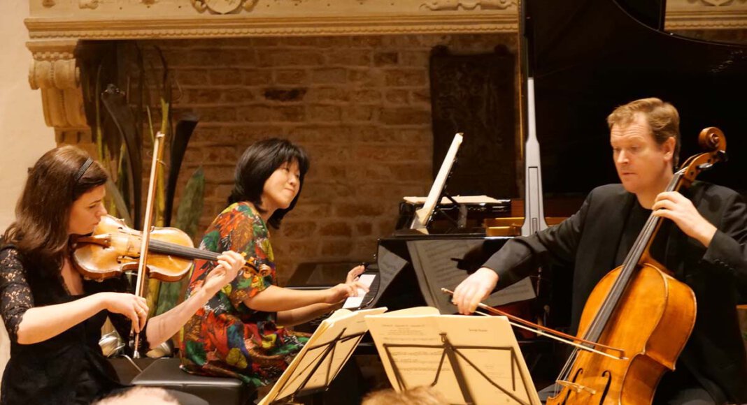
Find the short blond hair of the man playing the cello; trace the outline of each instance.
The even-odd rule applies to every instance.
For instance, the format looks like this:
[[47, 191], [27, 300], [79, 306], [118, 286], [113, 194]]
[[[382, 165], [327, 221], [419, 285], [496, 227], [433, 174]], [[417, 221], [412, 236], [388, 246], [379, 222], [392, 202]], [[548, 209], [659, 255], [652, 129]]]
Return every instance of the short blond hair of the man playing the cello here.
[[680, 160], [680, 114], [675, 106], [655, 97], [630, 101], [607, 116], [607, 125], [610, 130], [613, 125], [629, 125], [639, 114], [645, 117], [657, 144], [661, 145], [666, 139], [675, 138], [672, 166], [677, 167]]

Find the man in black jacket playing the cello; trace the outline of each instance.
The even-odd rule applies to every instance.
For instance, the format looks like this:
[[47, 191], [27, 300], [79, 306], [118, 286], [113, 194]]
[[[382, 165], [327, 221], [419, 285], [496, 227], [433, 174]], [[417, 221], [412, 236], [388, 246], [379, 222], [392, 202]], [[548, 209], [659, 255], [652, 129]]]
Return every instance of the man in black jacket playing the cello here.
[[671, 221], [663, 222], [651, 252], [697, 301], [695, 327], [675, 371], [657, 386], [654, 404], [747, 403], [747, 354], [736, 310], [747, 285], [747, 204], [734, 190], [699, 181], [682, 193], [663, 192], [678, 163], [679, 122], [675, 107], [658, 98], [616, 108], [607, 124], [621, 183], [593, 189], [560, 225], [507, 242], [456, 287], [459, 312], [473, 313], [491, 292], [539, 266], [573, 266], [576, 333], [592, 289], [623, 263], [653, 210]]

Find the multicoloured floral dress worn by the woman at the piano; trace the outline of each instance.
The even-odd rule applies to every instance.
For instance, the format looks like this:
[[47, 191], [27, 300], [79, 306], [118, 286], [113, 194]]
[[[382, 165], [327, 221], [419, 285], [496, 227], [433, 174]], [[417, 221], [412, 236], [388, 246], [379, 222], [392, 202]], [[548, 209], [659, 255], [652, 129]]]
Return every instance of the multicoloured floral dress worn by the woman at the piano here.
[[[255, 311], [244, 301], [276, 283], [267, 225], [248, 202], [232, 204], [205, 232], [200, 248], [246, 254], [256, 271], [239, 271], [229, 285], [197, 310], [182, 329], [182, 369], [236, 377], [264, 386], [280, 377], [308, 340], [275, 324], [276, 313]], [[196, 260], [187, 297], [202, 287], [217, 263]]]

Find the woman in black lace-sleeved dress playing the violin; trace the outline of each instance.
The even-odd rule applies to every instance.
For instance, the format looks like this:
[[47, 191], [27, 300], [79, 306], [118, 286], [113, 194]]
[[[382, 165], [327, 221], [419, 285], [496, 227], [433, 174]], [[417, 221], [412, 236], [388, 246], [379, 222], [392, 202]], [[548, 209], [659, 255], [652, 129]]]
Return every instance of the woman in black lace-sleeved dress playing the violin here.
[[147, 319], [143, 298], [121, 277], [84, 280], [70, 263], [73, 235], [91, 233], [106, 214], [107, 175], [73, 146], [44, 154], [28, 173], [16, 221], [0, 251], [0, 315], [10, 336], [0, 404], [90, 404], [124, 387], [98, 342], [107, 316], [122, 336], [141, 332], [140, 348], [160, 345], [243, 266], [220, 256], [199, 294]]

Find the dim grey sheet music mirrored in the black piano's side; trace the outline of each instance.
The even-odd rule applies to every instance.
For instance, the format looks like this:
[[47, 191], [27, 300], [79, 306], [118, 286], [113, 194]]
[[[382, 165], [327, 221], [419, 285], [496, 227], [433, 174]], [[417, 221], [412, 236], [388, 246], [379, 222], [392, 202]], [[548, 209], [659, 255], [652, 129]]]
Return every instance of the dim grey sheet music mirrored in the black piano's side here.
[[[412, 258], [412, 266], [418, 276], [423, 297], [428, 305], [438, 308], [441, 313], [456, 313], [451, 297], [441, 292], [441, 288], [454, 289], [467, 277], [467, 272], [456, 267], [456, 260], [476, 248], [480, 239], [412, 240], [407, 248]], [[494, 292], [484, 302], [490, 306], [508, 304], [535, 298], [536, 294], [529, 277], [498, 292]]]

